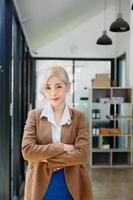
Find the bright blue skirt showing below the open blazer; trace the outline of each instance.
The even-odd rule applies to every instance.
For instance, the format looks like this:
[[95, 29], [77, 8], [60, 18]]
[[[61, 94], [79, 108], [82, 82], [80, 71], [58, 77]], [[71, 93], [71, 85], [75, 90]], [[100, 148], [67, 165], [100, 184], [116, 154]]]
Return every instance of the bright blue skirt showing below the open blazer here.
[[52, 174], [43, 200], [73, 200], [66, 185], [64, 169]]

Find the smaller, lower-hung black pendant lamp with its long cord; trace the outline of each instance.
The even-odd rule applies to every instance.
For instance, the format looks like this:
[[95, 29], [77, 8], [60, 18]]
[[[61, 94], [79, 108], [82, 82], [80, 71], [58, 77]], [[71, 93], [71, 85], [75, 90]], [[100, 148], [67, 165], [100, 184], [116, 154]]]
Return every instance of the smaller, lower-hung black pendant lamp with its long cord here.
[[111, 45], [112, 44], [112, 40], [111, 40], [111, 38], [108, 37], [105, 26], [106, 26], [106, 0], [105, 0], [105, 9], [104, 9], [104, 31], [103, 31], [102, 36], [100, 38], [98, 38], [98, 40], [96, 42], [98, 45]]

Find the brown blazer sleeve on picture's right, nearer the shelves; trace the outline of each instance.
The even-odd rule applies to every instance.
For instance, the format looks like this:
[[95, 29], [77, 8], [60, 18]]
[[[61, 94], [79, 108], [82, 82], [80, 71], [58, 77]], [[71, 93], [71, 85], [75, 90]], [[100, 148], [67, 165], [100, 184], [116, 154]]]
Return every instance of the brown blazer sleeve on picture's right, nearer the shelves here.
[[79, 122], [77, 123], [79, 125], [77, 128], [74, 150], [70, 152], [63, 152], [60, 155], [48, 159], [49, 166], [51, 168], [80, 165], [86, 163], [88, 159], [89, 138], [87, 122], [83, 113], [81, 113]]

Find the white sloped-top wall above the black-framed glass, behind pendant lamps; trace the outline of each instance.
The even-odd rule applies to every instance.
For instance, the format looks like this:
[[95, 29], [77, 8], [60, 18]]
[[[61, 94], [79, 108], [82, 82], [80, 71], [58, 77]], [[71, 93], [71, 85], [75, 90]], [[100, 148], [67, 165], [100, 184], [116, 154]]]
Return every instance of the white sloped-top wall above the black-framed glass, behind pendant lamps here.
[[[107, 10], [107, 29], [111, 24], [111, 17], [115, 14], [114, 7]], [[114, 57], [115, 35], [108, 31], [113, 45], [96, 45], [97, 39], [104, 29], [104, 13], [91, 18], [74, 30], [67, 32], [59, 39], [38, 50], [42, 57]]]

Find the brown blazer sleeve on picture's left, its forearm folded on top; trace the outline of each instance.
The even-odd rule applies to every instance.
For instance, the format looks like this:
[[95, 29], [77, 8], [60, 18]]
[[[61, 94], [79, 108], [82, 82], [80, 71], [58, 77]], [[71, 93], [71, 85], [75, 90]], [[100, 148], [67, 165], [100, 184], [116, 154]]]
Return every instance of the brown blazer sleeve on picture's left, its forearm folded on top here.
[[36, 114], [32, 110], [28, 113], [24, 135], [22, 139], [22, 155], [27, 161], [43, 161], [64, 152], [63, 144], [37, 144]]

